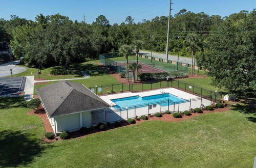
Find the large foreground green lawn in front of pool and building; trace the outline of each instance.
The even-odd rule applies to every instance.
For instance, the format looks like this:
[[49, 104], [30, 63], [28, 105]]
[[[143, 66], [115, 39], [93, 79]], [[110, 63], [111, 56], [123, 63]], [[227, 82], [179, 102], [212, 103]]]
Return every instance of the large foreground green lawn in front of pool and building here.
[[22, 98], [2, 97], [0, 107], [0, 167], [252, 167], [256, 153], [256, 111], [245, 105], [51, 144]]

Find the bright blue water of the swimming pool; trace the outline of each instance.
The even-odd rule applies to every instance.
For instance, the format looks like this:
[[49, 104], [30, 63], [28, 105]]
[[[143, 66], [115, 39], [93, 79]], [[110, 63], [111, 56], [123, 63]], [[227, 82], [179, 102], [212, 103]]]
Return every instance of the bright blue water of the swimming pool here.
[[164, 94], [159, 94], [159, 95], [152, 95], [152, 96], [146, 96], [146, 97], [140, 97], [140, 96], [132, 96], [132, 97], [124, 97], [124, 98], [119, 98], [119, 99], [112, 99], [117, 108], [125, 108], [126, 106], [128, 107], [134, 107], [135, 105], [138, 107], [143, 107], [152, 105], [152, 104], [161, 104], [162, 106], [167, 106], [168, 105], [168, 100], [169, 105], [172, 105], [175, 103], [184, 103], [187, 102], [187, 100], [179, 98], [175, 95], [169, 94], [169, 93], [164, 93]]

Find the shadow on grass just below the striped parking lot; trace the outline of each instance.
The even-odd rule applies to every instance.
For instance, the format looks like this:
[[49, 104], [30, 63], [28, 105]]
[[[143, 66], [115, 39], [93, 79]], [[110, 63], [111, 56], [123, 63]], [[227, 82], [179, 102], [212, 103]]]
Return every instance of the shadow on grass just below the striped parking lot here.
[[24, 97], [0, 97], [0, 109], [15, 107], [27, 107]]

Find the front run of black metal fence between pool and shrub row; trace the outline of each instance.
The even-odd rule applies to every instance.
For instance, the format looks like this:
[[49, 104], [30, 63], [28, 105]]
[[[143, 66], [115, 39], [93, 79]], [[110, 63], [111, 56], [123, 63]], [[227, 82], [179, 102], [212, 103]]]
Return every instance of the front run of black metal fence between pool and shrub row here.
[[202, 104], [204, 106], [211, 105], [212, 102], [212, 99], [208, 100], [203, 97], [197, 97], [192, 99], [182, 99], [179, 101], [166, 99], [163, 101], [126, 107], [112, 106], [110, 108], [92, 111], [92, 125], [97, 125], [98, 123], [114, 123], [116, 121], [123, 121], [131, 118], [136, 119], [143, 115], [151, 116], [156, 113], [162, 114], [167, 110], [170, 111], [170, 113], [178, 113], [190, 110], [191, 108], [201, 108]]

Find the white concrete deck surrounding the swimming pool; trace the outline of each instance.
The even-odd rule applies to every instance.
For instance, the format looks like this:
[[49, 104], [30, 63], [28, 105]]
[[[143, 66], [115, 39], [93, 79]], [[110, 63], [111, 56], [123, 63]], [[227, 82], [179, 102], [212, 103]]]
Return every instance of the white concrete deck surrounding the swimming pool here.
[[[152, 95], [158, 95], [163, 93], [169, 93], [172, 95], [175, 95], [179, 98], [188, 100], [186, 102], [181, 102], [176, 104], [168, 104], [168, 105], [162, 105], [161, 103], [155, 103], [155, 104], [149, 104], [146, 106], [137, 106], [134, 108], [128, 108], [128, 109], [122, 109], [116, 108], [116, 107], [110, 107], [108, 108], [108, 112], [104, 115], [106, 122], [115, 122], [120, 120], [127, 120], [129, 118], [135, 118], [136, 116], [140, 117], [142, 115], [150, 115], [159, 113], [160, 111], [164, 112], [166, 110], [171, 111], [171, 113], [177, 113], [178, 111], [185, 111], [189, 110], [190, 108], [197, 108], [200, 107], [201, 104], [204, 104], [205, 106], [210, 105], [211, 101], [200, 98], [196, 95], [192, 95], [189, 93], [186, 93], [184, 91], [175, 89], [175, 88], [166, 88], [166, 89], [158, 89], [153, 91], [145, 91], [145, 92], [126, 92], [126, 93], [119, 93], [119, 94], [112, 94], [107, 96], [100, 96], [101, 99], [103, 99], [105, 102], [110, 104], [111, 106], [116, 105], [114, 102], [112, 102], [112, 99], [118, 99], [118, 98], [124, 98], [124, 97], [131, 97], [131, 96], [152, 96]], [[192, 100], [191, 100], [192, 99]], [[191, 101], [190, 101], [191, 100]], [[138, 104], [133, 104], [138, 105]]]

